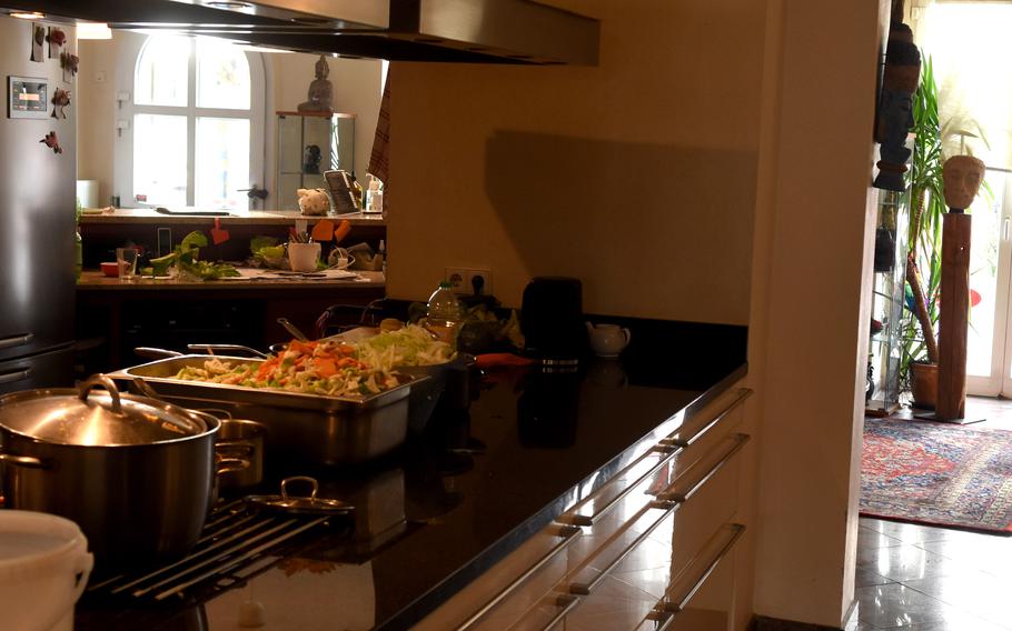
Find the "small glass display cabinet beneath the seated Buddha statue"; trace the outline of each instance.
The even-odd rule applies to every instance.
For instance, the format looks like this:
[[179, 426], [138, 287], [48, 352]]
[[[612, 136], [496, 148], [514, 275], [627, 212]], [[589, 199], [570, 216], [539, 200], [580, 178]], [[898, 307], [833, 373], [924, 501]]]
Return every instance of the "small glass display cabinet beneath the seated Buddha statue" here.
[[327, 188], [324, 172], [355, 170], [355, 117], [277, 112], [278, 209], [298, 210], [298, 189]]

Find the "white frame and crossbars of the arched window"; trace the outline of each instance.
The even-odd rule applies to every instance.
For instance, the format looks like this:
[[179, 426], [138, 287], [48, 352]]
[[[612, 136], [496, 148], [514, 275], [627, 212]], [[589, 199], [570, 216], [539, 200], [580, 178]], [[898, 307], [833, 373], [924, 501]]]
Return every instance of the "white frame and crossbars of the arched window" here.
[[[117, 84], [120, 89], [115, 94], [117, 137], [115, 141], [113, 177], [115, 190], [120, 197], [122, 208], [155, 208], [157, 203], [139, 202], [133, 190], [133, 117], [135, 114], [185, 116], [187, 119], [187, 193], [186, 203], [195, 206], [197, 194], [196, 177], [196, 140], [197, 118], [231, 118], [249, 120], [249, 182], [261, 188], [265, 183], [265, 130], [267, 112], [267, 84], [264, 56], [259, 52], [242, 51], [249, 64], [250, 96], [249, 109], [222, 109], [197, 107], [197, 39], [190, 37], [190, 57], [187, 72], [187, 104], [183, 106], [143, 106], [133, 102], [136, 96], [137, 63], [148, 40], [160, 33], [130, 33], [123, 38], [121, 54], [117, 64]], [[212, 209], [217, 210], [217, 209]], [[246, 212], [240, 203], [229, 211]]]

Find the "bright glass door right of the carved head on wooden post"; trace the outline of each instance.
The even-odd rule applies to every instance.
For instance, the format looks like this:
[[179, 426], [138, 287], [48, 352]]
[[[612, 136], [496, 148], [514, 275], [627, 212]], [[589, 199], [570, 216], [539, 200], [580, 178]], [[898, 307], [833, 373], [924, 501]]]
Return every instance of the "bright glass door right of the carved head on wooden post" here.
[[966, 387], [970, 394], [1012, 395], [1012, 177], [989, 169], [971, 207], [970, 329]]

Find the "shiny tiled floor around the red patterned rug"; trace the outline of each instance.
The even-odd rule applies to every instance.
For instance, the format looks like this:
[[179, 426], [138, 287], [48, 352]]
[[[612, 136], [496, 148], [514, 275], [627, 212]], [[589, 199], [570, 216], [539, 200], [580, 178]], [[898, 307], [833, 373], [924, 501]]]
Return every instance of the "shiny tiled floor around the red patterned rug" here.
[[[1012, 401], [970, 398], [975, 429], [1012, 429]], [[862, 518], [859, 631], [1012, 631], [1012, 537]]]

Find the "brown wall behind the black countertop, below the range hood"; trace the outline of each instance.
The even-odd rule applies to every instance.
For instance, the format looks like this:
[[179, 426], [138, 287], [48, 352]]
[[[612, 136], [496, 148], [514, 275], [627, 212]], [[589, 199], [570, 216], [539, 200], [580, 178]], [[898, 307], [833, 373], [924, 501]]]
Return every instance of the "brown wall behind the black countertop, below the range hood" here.
[[557, 0], [598, 67], [397, 63], [388, 293], [444, 268], [584, 282], [588, 312], [746, 323], [764, 3]]

